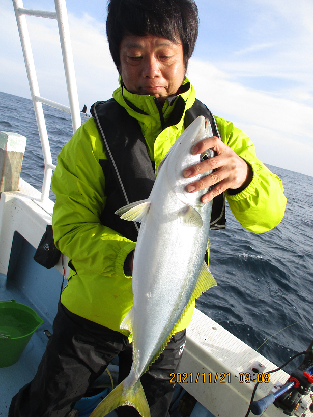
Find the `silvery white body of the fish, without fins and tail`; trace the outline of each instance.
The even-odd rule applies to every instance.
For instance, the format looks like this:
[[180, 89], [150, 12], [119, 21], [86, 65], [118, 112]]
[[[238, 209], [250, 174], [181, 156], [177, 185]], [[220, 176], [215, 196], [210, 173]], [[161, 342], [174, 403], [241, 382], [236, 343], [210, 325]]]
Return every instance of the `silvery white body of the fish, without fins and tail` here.
[[[140, 226], [133, 263], [132, 335], [138, 376], [180, 319], [203, 265], [212, 201], [201, 202], [207, 190], [188, 193], [186, 185], [198, 178], [186, 180], [182, 171], [200, 162], [200, 155], [192, 155], [190, 150], [206, 136], [204, 125], [204, 117], [197, 118], [172, 146], [159, 169], [149, 212]], [[190, 207], [200, 214], [202, 227], [183, 223]]]

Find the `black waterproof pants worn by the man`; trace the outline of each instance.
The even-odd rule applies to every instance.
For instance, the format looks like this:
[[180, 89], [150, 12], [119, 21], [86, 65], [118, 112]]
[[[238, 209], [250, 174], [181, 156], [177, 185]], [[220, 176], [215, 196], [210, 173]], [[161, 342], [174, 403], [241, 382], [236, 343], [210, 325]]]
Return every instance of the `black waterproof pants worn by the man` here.
[[[185, 345], [185, 333], [176, 333], [160, 358], [140, 378], [151, 417], [167, 417]], [[13, 397], [8, 417], [65, 417], [107, 365], [119, 354], [119, 382], [129, 374], [132, 345], [119, 332], [71, 313], [61, 303], [53, 322], [53, 335], [32, 382]], [[118, 408], [119, 417], [137, 417], [133, 407]]]

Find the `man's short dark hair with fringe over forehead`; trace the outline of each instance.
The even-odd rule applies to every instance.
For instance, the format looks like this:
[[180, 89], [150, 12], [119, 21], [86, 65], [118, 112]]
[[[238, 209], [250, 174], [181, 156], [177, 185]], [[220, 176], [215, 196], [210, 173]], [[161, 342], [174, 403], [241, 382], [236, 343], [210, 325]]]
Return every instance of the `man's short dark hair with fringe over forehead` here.
[[147, 34], [181, 42], [184, 65], [198, 36], [198, 9], [194, 0], [109, 0], [106, 33], [110, 53], [120, 71], [120, 45], [127, 34]]

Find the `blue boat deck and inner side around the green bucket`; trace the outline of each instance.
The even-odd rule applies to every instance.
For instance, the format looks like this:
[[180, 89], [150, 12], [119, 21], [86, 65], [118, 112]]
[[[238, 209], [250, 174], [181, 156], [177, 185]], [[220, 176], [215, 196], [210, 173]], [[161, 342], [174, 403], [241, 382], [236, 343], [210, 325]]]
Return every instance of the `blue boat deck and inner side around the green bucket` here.
[[[47, 270], [36, 263], [33, 259], [35, 251], [35, 248], [16, 234], [12, 246], [8, 279], [4, 274], [0, 274], [0, 282], [7, 283], [5, 289], [1, 285], [0, 299], [15, 299], [18, 303], [26, 304], [44, 320], [44, 323], [33, 334], [19, 361], [7, 368], [0, 368], [1, 417], [7, 416], [12, 397], [23, 385], [33, 379], [37, 371], [48, 341], [43, 330], [48, 329], [52, 333], [52, 321], [60, 296], [62, 275], [54, 268]], [[44, 289], [46, 280], [49, 282], [48, 296]], [[29, 293], [29, 288], [34, 288], [32, 293]], [[43, 296], [41, 297], [40, 294]]]

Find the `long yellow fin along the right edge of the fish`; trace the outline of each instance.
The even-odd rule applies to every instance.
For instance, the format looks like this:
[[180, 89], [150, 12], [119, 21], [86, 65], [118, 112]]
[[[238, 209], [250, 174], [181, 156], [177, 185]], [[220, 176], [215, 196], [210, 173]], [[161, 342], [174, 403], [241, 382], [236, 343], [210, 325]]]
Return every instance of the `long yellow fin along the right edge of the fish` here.
[[159, 347], [159, 349], [157, 350], [157, 352], [153, 356], [152, 361], [150, 362], [150, 364], [145, 369], [145, 372], [149, 369], [149, 367], [158, 359], [158, 357], [160, 356], [160, 354], [163, 352], [163, 350], [167, 346], [170, 338], [176, 332], [176, 329], [178, 328], [178, 326], [179, 326], [182, 318], [184, 317], [184, 315], [186, 314], [188, 308], [191, 306], [191, 304], [194, 302], [194, 300], [198, 296], [200, 296], [201, 294], [203, 294], [204, 292], [206, 292], [209, 288], [215, 287], [216, 285], [217, 285], [217, 283], [216, 283], [213, 275], [211, 274], [211, 271], [209, 270], [208, 265], [206, 264], [206, 262], [203, 262], [202, 267], [201, 267], [200, 274], [198, 276], [198, 279], [197, 279], [197, 282], [195, 284], [193, 293], [192, 293], [192, 295], [190, 297], [190, 300], [189, 300], [187, 306], [185, 307], [185, 309], [184, 309], [184, 311], [183, 311], [180, 319], [175, 324], [174, 329], [172, 330], [172, 332], [170, 332], [170, 334], [167, 336], [166, 340], [163, 342], [163, 344]]

